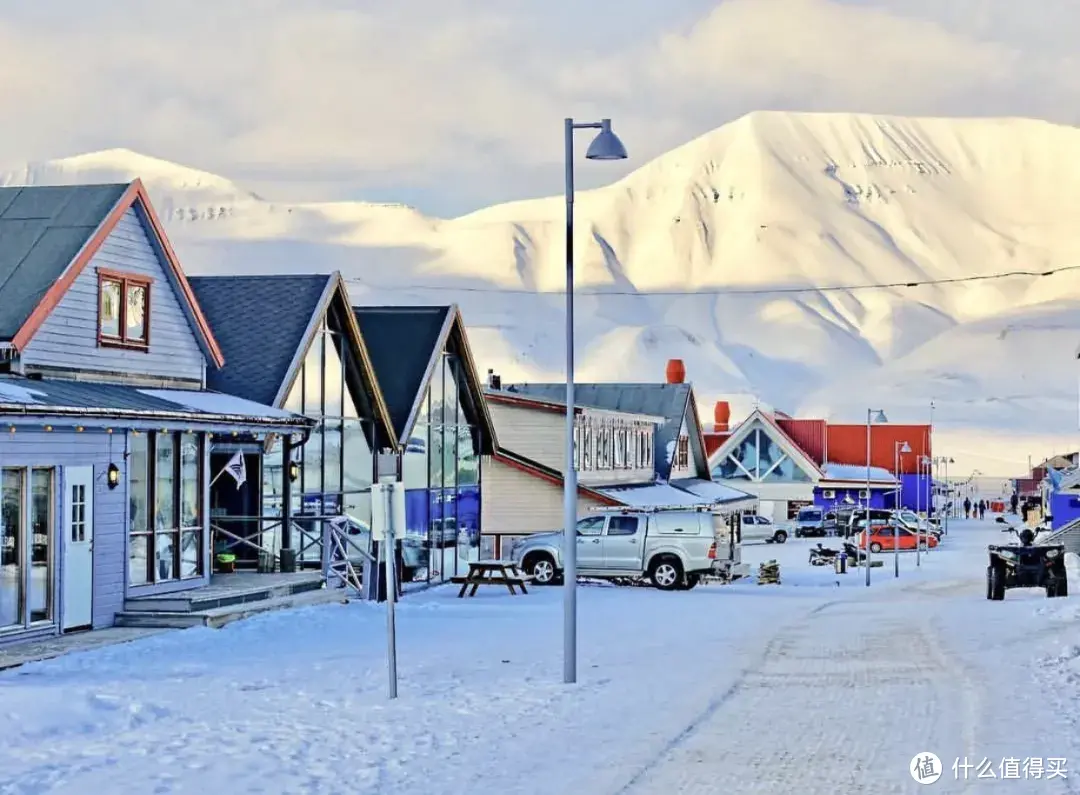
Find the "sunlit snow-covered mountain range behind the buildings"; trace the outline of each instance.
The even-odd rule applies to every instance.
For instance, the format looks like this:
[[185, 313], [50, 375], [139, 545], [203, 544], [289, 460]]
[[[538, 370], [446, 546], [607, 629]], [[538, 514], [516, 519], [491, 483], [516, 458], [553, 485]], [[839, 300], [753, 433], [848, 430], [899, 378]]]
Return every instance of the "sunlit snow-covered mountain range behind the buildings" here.
[[[0, 185], [135, 176], [192, 273], [338, 269], [357, 302], [458, 302], [508, 380], [562, 373], [562, 197], [453, 219], [289, 204], [127, 150]], [[752, 113], [580, 192], [576, 213], [582, 379], [651, 380], [681, 358], [703, 405], [733, 395], [737, 415], [921, 419], [933, 399], [954, 455], [984, 471], [1080, 436], [1080, 272], [834, 289], [1080, 265], [1080, 130]]]

